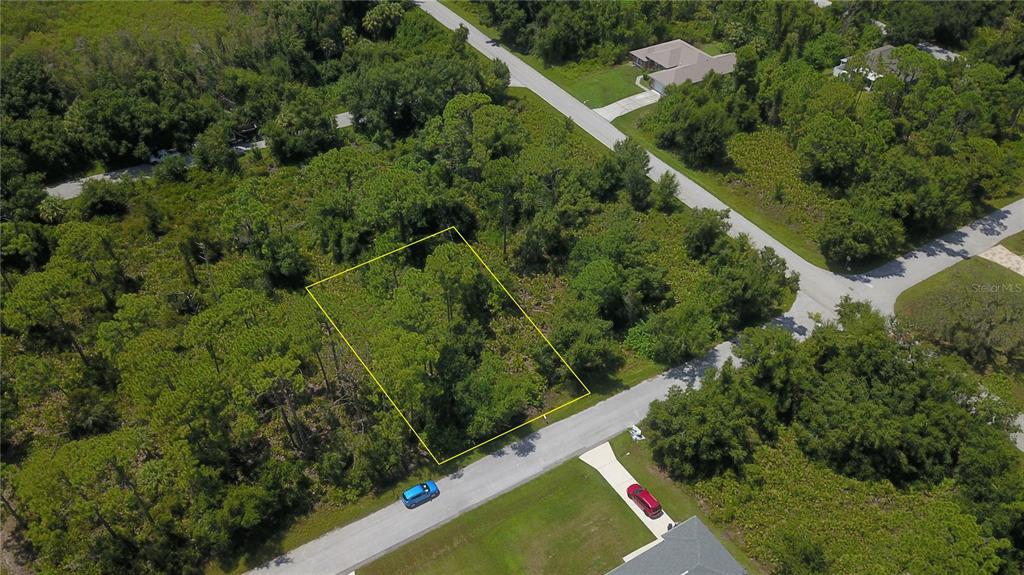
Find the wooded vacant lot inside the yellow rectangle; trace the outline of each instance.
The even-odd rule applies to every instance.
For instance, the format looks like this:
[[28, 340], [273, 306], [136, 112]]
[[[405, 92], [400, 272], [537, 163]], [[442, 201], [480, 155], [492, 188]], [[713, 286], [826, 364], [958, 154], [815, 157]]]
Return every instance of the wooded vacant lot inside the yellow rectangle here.
[[309, 292], [438, 465], [589, 393], [456, 228], [392, 250]]

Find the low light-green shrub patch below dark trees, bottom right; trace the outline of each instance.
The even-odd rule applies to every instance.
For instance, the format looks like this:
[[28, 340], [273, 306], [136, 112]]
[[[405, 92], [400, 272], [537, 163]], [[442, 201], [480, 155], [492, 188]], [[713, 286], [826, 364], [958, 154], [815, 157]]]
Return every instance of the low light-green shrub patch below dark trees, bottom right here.
[[997, 572], [994, 546], [950, 484], [850, 479], [808, 459], [790, 434], [760, 447], [741, 476], [692, 489], [743, 548], [784, 572]]

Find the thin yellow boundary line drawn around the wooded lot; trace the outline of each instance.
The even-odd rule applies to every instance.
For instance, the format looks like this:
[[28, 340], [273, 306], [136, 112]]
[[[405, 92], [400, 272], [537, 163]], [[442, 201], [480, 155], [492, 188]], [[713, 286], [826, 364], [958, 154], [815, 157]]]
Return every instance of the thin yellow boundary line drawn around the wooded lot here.
[[[537, 329], [537, 333], [540, 334], [542, 338], [544, 338], [544, 343], [548, 344], [548, 347], [551, 348], [551, 351], [555, 352], [555, 355], [558, 356], [558, 359], [562, 362], [562, 365], [564, 365], [565, 368], [569, 370], [569, 373], [572, 373], [572, 377], [575, 378], [575, 381], [580, 383], [580, 385], [583, 387], [584, 390], [586, 390], [587, 393], [585, 393], [585, 394], [583, 394], [580, 397], [577, 397], [574, 399], [570, 399], [569, 401], [566, 401], [565, 403], [563, 403], [563, 404], [561, 404], [561, 405], [559, 405], [557, 407], [549, 409], [548, 411], [545, 411], [544, 413], [541, 413], [540, 415], [538, 415], [538, 416], [536, 416], [536, 417], [534, 417], [534, 418], [531, 418], [529, 421], [523, 422], [523, 423], [519, 424], [518, 426], [516, 426], [516, 427], [514, 427], [514, 428], [512, 428], [512, 429], [510, 429], [508, 431], [502, 432], [502, 433], [496, 435], [495, 437], [492, 437], [490, 439], [488, 439], [486, 441], [481, 441], [480, 443], [477, 443], [476, 445], [470, 447], [469, 449], [466, 449], [464, 451], [460, 451], [459, 453], [456, 453], [455, 455], [452, 455], [451, 457], [446, 457], [444, 459], [437, 459], [437, 456], [434, 455], [434, 452], [430, 449], [430, 447], [427, 445], [427, 443], [425, 441], [423, 441], [423, 438], [420, 437], [420, 434], [416, 431], [416, 428], [413, 427], [413, 424], [411, 424], [409, 422], [409, 418], [406, 417], [406, 414], [401, 412], [401, 409], [398, 407], [398, 404], [395, 403], [393, 399], [391, 399], [391, 395], [387, 392], [386, 389], [384, 389], [384, 386], [381, 385], [380, 381], [377, 379], [377, 375], [374, 374], [373, 370], [370, 369], [370, 366], [367, 365], [367, 362], [362, 360], [362, 358], [359, 356], [358, 352], [355, 351], [355, 348], [352, 347], [352, 344], [349, 343], [348, 338], [346, 338], [345, 335], [341, 331], [341, 329], [338, 328], [338, 324], [334, 322], [334, 318], [331, 317], [331, 314], [329, 314], [327, 312], [327, 310], [324, 309], [324, 306], [321, 305], [319, 300], [316, 299], [316, 296], [313, 296], [312, 290], [310, 290], [310, 288], [314, 288], [316, 285], [319, 285], [321, 283], [324, 283], [325, 281], [327, 281], [329, 279], [334, 279], [336, 277], [340, 277], [340, 276], [342, 276], [342, 275], [344, 275], [344, 274], [346, 274], [346, 273], [348, 273], [350, 271], [353, 271], [355, 269], [358, 269], [358, 268], [360, 268], [360, 267], [362, 267], [362, 266], [365, 266], [367, 264], [376, 262], [377, 260], [380, 260], [382, 258], [386, 258], [386, 257], [388, 257], [388, 256], [390, 256], [392, 254], [395, 254], [397, 252], [400, 252], [400, 251], [402, 251], [402, 250], [404, 250], [407, 248], [410, 248], [412, 246], [416, 246], [417, 244], [426, 241], [427, 239], [430, 239], [432, 237], [436, 237], [436, 236], [438, 236], [438, 235], [440, 235], [442, 233], [449, 232], [449, 231], [455, 231], [456, 234], [459, 235], [459, 238], [462, 239], [462, 242], [465, 244], [467, 248], [469, 248], [469, 251], [476, 258], [476, 261], [480, 262], [480, 265], [483, 266], [483, 269], [487, 270], [487, 273], [490, 274], [490, 277], [493, 277], [494, 280], [498, 283], [498, 285], [502, 289], [502, 291], [505, 292], [505, 295], [508, 296], [510, 300], [512, 300], [512, 303], [514, 303], [515, 307], [519, 309], [519, 311], [522, 313], [522, 316], [526, 318], [526, 321], [528, 321], [529, 324], [534, 326], [534, 329]], [[525, 426], [528, 426], [529, 424], [532, 424], [534, 422], [536, 422], [536, 421], [538, 421], [538, 419], [540, 419], [542, 417], [547, 417], [548, 415], [550, 415], [551, 413], [554, 413], [555, 411], [558, 411], [562, 407], [567, 407], [567, 406], [571, 405], [572, 403], [575, 403], [577, 401], [580, 401], [581, 399], [587, 397], [591, 393], [590, 392], [590, 388], [587, 387], [587, 384], [583, 383], [583, 380], [580, 379], [580, 375], [578, 375], [577, 372], [574, 370], [572, 370], [572, 366], [570, 366], [568, 364], [568, 362], [565, 361], [565, 358], [562, 357], [562, 354], [559, 353], [557, 349], [555, 349], [555, 346], [553, 346], [551, 344], [551, 341], [548, 340], [548, 337], [544, 335], [544, 331], [542, 331], [541, 328], [538, 327], [538, 325], [534, 321], [534, 319], [529, 316], [528, 313], [526, 313], [526, 310], [522, 309], [522, 306], [519, 305], [519, 302], [512, 296], [512, 293], [509, 292], [507, 288], [505, 288], [505, 284], [502, 283], [501, 279], [498, 279], [498, 276], [495, 275], [495, 272], [490, 270], [490, 266], [488, 266], [487, 263], [483, 261], [483, 258], [481, 258], [480, 255], [476, 253], [476, 250], [473, 249], [473, 247], [469, 244], [469, 241], [466, 240], [465, 236], [462, 235], [462, 232], [460, 232], [459, 228], [457, 228], [456, 226], [449, 226], [449, 227], [446, 227], [446, 228], [444, 228], [444, 229], [442, 229], [442, 230], [440, 230], [440, 231], [438, 231], [436, 233], [432, 233], [430, 235], [421, 237], [421, 238], [417, 239], [416, 241], [412, 241], [410, 244], [407, 244], [406, 246], [402, 246], [401, 248], [396, 248], [394, 250], [391, 250], [390, 252], [388, 252], [386, 254], [382, 254], [380, 256], [377, 256], [376, 258], [367, 260], [367, 261], [362, 262], [361, 264], [352, 266], [352, 267], [350, 267], [350, 268], [348, 268], [348, 269], [346, 269], [344, 271], [340, 271], [338, 273], [335, 273], [334, 275], [329, 275], [328, 277], [325, 277], [324, 279], [321, 279], [319, 281], [314, 281], [314, 282], [310, 283], [309, 285], [306, 285], [306, 293], [309, 294], [310, 298], [312, 298], [313, 302], [316, 304], [316, 307], [319, 308], [321, 312], [323, 312], [324, 315], [327, 317], [327, 320], [331, 322], [331, 326], [334, 327], [334, 330], [337, 331], [339, 336], [341, 336], [341, 341], [345, 342], [345, 345], [348, 346], [349, 350], [351, 350], [352, 354], [355, 356], [355, 359], [357, 359], [359, 361], [359, 364], [362, 365], [362, 368], [366, 369], [367, 373], [370, 374], [370, 379], [372, 379], [374, 381], [374, 383], [377, 384], [377, 387], [380, 388], [380, 390], [384, 393], [384, 397], [386, 397], [387, 400], [391, 403], [391, 406], [394, 407], [394, 410], [398, 412], [398, 415], [401, 417], [401, 421], [406, 422], [406, 425], [409, 426], [410, 430], [412, 430], [413, 435], [415, 435], [416, 439], [418, 439], [420, 441], [420, 445], [422, 445], [423, 448], [427, 450], [427, 453], [430, 454], [430, 457], [438, 466], [444, 465], [445, 462], [451, 461], [452, 459], [455, 459], [456, 457], [461, 457], [462, 455], [465, 455], [466, 453], [469, 453], [470, 451], [473, 451], [474, 449], [478, 449], [479, 447], [482, 447], [482, 446], [490, 443], [492, 441], [495, 441], [495, 440], [497, 440], [497, 439], [499, 439], [501, 437], [504, 437], [504, 436], [506, 436], [506, 435], [508, 435], [508, 434], [510, 434], [510, 433], [512, 433], [512, 432], [514, 432], [514, 431], [516, 431], [518, 429], [521, 429], [521, 428], [523, 428]]]

